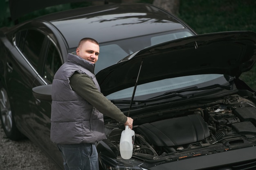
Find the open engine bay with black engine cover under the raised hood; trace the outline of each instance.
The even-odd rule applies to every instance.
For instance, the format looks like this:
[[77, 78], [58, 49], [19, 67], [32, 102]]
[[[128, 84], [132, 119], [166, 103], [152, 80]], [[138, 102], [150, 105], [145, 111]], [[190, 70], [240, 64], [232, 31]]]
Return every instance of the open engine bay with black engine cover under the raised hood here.
[[[172, 161], [256, 144], [254, 102], [233, 95], [204, 106], [180, 109], [181, 113], [177, 113], [176, 108], [175, 113], [162, 114], [162, 120], [152, 119], [155, 121], [135, 125], [133, 157], [144, 161]], [[123, 125], [108, 122], [105, 126], [118, 157]]]

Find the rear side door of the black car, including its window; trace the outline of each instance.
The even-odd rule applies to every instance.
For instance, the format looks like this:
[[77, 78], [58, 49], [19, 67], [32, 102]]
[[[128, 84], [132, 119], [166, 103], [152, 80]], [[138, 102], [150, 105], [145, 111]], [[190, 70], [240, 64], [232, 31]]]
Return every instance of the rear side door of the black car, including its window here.
[[33, 133], [31, 88], [37, 77], [37, 66], [45, 35], [34, 29], [23, 29], [14, 35], [14, 47], [7, 57], [6, 84], [18, 129], [28, 137]]

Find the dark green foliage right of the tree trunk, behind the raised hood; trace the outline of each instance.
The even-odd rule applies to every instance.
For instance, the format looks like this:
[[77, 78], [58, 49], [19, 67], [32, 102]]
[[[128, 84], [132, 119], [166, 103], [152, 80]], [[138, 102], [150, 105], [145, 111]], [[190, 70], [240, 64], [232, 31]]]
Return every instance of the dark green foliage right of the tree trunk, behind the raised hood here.
[[[198, 34], [239, 30], [256, 32], [256, 0], [180, 0], [178, 17]], [[256, 89], [256, 64], [240, 78]]]

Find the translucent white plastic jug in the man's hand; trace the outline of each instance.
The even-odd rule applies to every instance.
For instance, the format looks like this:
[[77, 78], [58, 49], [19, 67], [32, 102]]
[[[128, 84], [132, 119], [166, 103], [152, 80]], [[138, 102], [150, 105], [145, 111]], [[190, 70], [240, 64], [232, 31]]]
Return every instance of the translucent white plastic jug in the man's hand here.
[[134, 136], [135, 133], [129, 126], [126, 126], [125, 130], [121, 133], [119, 150], [123, 159], [130, 159], [132, 157]]

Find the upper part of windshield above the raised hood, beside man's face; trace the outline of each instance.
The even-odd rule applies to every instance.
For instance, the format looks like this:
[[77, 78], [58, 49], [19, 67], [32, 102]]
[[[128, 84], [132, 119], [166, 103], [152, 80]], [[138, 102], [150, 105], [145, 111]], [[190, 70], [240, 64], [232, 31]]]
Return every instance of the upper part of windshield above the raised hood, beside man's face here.
[[100, 70], [144, 48], [192, 35], [188, 29], [182, 29], [100, 44], [99, 60], [95, 64], [94, 73], [97, 74]]

